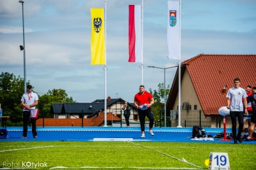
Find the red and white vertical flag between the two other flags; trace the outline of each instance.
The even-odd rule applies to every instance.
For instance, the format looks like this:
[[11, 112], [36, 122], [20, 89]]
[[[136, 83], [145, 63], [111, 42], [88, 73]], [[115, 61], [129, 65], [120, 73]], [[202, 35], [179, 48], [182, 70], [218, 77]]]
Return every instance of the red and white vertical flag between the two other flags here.
[[141, 5], [129, 5], [129, 62], [142, 62]]

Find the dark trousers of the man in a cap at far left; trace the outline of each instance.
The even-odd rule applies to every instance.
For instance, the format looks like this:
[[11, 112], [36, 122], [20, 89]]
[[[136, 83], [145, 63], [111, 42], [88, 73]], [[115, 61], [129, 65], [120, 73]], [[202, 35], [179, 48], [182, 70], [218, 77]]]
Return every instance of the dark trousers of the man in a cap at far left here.
[[[23, 111], [23, 136], [27, 136], [28, 133], [28, 120], [30, 117], [30, 111]], [[37, 136], [36, 132], [36, 118], [31, 118], [30, 122], [32, 124], [32, 134]]]

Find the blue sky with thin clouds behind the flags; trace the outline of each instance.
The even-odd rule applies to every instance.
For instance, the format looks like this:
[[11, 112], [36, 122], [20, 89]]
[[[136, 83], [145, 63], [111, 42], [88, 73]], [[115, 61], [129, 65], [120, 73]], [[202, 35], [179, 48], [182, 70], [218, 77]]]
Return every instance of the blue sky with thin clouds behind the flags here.
[[[107, 96], [130, 103], [141, 85], [139, 62], [128, 62], [128, 6], [107, 1]], [[167, 0], [143, 1], [143, 85], [172, 85], [179, 60], [167, 58]], [[24, 0], [26, 79], [42, 96], [64, 89], [78, 103], [104, 99], [104, 66], [90, 64], [90, 8], [104, 0]], [[255, 54], [256, 1], [182, 0], [181, 62], [200, 53]], [[24, 78], [22, 4], [0, 0], [0, 72]], [[173, 67], [164, 69], [155, 67]], [[21, 96], [20, 96], [21, 97]]]

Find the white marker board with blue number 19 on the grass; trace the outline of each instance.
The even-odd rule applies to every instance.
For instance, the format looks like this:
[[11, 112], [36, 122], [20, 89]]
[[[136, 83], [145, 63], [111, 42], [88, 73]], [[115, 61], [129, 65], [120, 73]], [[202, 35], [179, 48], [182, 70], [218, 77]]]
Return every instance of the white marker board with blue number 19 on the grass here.
[[211, 152], [209, 157], [208, 169], [216, 170], [229, 170], [230, 164], [228, 159], [228, 153], [224, 152]]

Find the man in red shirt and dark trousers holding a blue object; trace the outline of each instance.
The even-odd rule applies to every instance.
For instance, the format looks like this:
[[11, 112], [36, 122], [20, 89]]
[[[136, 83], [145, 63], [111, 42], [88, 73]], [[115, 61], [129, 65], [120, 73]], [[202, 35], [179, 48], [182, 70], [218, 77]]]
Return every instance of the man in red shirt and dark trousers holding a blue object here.
[[151, 110], [152, 104], [154, 104], [153, 96], [145, 91], [145, 87], [140, 85], [140, 92], [134, 96], [134, 104], [138, 108], [138, 115], [140, 118], [141, 137], [145, 138], [145, 118], [149, 119], [149, 133], [154, 136], [152, 128], [154, 125], [154, 113]]

